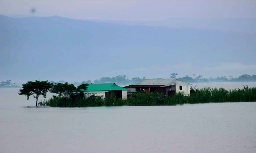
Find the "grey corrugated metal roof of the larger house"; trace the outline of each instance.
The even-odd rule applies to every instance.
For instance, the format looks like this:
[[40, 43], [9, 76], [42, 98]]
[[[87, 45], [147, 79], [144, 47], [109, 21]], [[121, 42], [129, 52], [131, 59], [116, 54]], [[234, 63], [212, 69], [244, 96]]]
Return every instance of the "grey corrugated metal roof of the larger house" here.
[[145, 79], [141, 82], [131, 84], [130, 86], [143, 86], [143, 85], [191, 85], [190, 83], [181, 81], [179, 79]]

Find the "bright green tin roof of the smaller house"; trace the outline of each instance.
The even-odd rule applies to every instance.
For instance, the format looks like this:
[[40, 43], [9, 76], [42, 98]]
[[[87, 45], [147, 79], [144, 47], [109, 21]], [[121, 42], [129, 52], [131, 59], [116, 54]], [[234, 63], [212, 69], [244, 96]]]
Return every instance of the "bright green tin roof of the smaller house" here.
[[112, 90], [128, 90], [120, 87], [115, 83], [93, 83], [87, 86], [86, 91], [112, 91]]

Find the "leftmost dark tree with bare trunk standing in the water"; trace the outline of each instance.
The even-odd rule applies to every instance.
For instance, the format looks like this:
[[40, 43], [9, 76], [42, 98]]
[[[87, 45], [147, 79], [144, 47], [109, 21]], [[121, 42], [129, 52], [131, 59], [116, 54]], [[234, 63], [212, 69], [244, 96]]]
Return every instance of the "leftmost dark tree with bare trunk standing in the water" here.
[[[38, 97], [40, 95], [46, 98], [46, 93], [52, 88], [53, 84], [48, 81], [28, 81], [27, 83], [22, 85], [23, 89], [19, 90], [19, 95], [26, 95], [27, 100], [29, 100], [29, 96], [33, 96], [38, 101]], [[35, 103], [37, 106], [37, 102]]]

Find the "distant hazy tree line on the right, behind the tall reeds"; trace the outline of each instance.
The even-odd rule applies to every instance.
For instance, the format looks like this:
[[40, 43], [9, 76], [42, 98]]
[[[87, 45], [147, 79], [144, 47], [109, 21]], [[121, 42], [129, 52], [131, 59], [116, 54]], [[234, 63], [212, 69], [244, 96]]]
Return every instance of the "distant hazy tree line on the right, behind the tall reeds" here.
[[[172, 73], [170, 74], [170, 78], [172, 79], [176, 79], [176, 75], [178, 75], [177, 73]], [[197, 83], [197, 82], [241, 82], [241, 81], [256, 81], [256, 75], [248, 75], [248, 74], [243, 74], [241, 76], [239, 76], [238, 78], [233, 78], [231, 75], [229, 76], [229, 79], [224, 76], [224, 77], [210, 77], [210, 78], [203, 78], [202, 75], [198, 75], [196, 77], [195, 74], [193, 74], [193, 77], [189, 77], [188, 75], [186, 75], [186, 77], [182, 77], [182, 78], [177, 78], [179, 80], [188, 82], [188, 83]]]

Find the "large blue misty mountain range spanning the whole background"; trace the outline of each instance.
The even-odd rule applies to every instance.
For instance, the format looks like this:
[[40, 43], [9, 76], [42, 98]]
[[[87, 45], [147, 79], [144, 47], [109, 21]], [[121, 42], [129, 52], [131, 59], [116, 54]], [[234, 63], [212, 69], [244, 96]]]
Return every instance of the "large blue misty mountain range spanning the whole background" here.
[[[3, 15], [0, 32], [2, 80], [82, 81], [119, 74], [161, 78], [172, 72], [204, 75], [204, 67], [255, 65], [256, 57], [255, 33]], [[214, 76], [216, 72], [205, 73]]]

